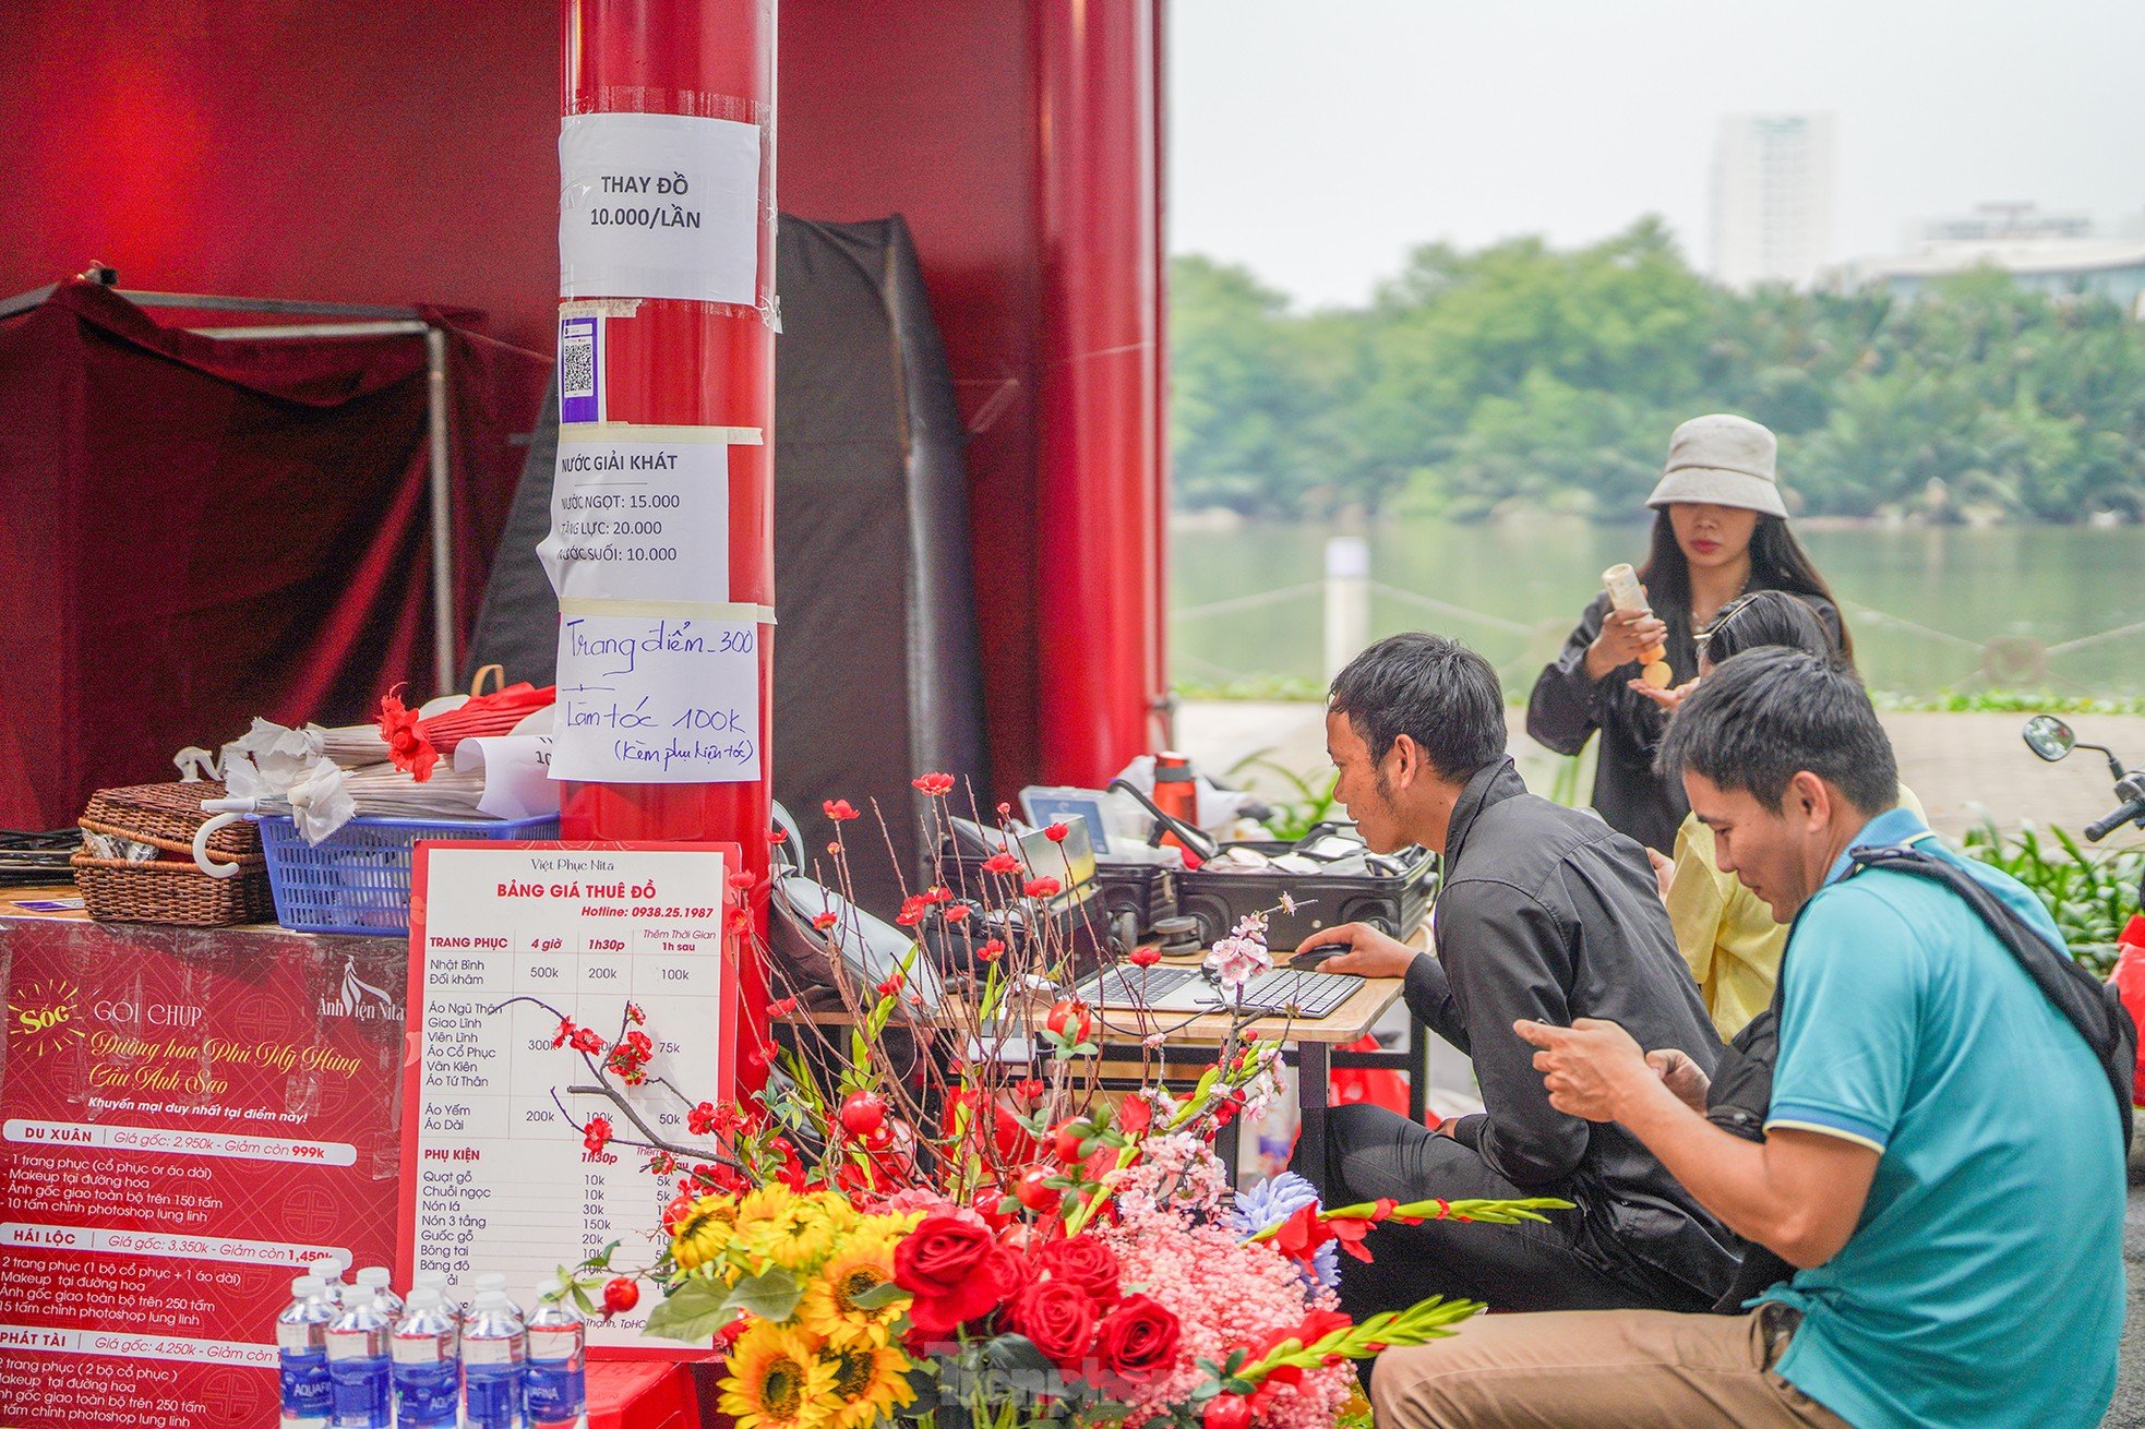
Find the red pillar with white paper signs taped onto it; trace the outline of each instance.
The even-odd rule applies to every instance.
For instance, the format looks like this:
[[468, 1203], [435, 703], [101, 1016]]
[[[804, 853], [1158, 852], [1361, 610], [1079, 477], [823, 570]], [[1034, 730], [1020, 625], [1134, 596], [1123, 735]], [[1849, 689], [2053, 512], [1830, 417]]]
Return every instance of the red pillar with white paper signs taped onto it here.
[[[774, 0], [562, 0], [562, 114], [678, 114], [759, 129], [757, 292], [744, 303], [639, 298], [603, 320], [607, 423], [742, 427], [729, 446], [729, 592], [774, 605]], [[562, 290], [564, 294], [564, 290]], [[581, 309], [577, 309], [581, 311]], [[757, 627], [759, 777], [742, 783], [568, 783], [566, 839], [725, 841], [766, 878], [774, 629]], [[761, 905], [764, 912], [764, 905]], [[744, 989], [751, 1019], [766, 996]], [[742, 1026], [742, 1023], [740, 1023]], [[742, 1062], [742, 1077], [757, 1084]]]

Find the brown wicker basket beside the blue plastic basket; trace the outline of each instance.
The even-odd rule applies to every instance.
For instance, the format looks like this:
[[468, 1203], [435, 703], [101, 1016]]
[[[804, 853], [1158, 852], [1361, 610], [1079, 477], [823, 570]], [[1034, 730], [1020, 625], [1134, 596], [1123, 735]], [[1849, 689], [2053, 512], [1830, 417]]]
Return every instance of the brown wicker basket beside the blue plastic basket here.
[[268, 923], [275, 897], [260, 830], [230, 824], [208, 839], [210, 863], [236, 863], [238, 878], [208, 878], [193, 863], [193, 835], [210, 817], [204, 798], [223, 798], [221, 783], [144, 783], [129, 790], [99, 790], [82, 813], [90, 835], [124, 839], [157, 850], [157, 858], [101, 858], [82, 852], [71, 858], [82, 903], [99, 923], [176, 923], [182, 927], [230, 927]]

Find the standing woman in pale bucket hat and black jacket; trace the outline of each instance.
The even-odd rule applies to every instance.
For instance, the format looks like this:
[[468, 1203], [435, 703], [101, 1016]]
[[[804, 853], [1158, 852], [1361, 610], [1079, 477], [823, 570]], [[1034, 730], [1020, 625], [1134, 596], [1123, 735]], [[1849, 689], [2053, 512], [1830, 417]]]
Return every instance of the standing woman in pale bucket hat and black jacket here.
[[1639, 669], [1667, 650], [1669, 684], [1699, 674], [1692, 633], [1746, 590], [1787, 590], [1810, 603], [1838, 650], [1853, 639], [1825, 577], [1787, 528], [1774, 470], [1778, 442], [1746, 416], [1695, 416], [1669, 438], [1669, 463], [1645, 500], [1654, 541], [1639, 581], [1650, 609], [1615, 609], [1594, 596], [1564, 650], [1534, 682], [1527, 734], [1574, 755], [1600, 730], [1594, 809], [1611, 828], [1667, 854], [1688, 807], [1654, 772], [1669, 712], [1639, 693]]

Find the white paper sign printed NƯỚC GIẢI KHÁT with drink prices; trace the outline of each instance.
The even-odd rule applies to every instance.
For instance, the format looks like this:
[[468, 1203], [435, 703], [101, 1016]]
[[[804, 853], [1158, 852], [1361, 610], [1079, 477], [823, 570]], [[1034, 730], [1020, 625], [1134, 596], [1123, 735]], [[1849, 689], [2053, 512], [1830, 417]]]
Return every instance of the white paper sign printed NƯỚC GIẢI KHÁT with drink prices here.
[[562, 601], [729, 599], [729, 446], [753, 427], [560, 427], [551, 534]]

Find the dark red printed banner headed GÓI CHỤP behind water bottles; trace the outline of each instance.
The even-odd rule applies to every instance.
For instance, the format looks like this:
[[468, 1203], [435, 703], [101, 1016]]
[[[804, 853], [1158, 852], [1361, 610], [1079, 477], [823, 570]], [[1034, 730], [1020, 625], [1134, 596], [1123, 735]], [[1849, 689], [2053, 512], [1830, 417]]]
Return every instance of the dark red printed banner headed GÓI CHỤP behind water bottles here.
[[393, 1264], [405, 959], [0, 920], [0, 1425], [277, 1423], [290, 1281]]

